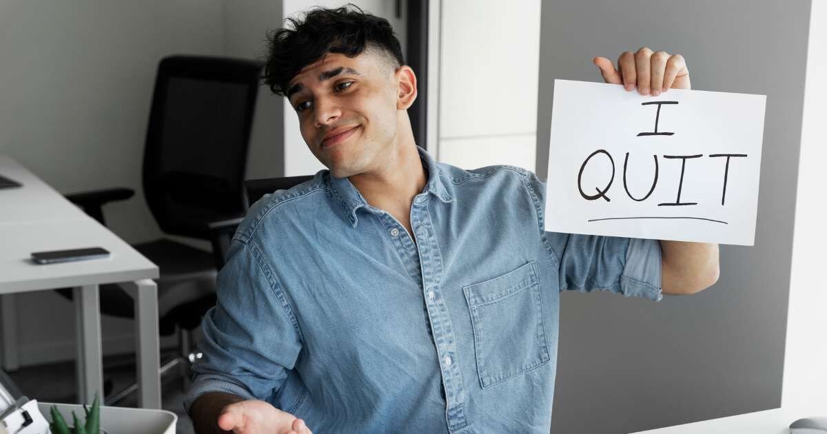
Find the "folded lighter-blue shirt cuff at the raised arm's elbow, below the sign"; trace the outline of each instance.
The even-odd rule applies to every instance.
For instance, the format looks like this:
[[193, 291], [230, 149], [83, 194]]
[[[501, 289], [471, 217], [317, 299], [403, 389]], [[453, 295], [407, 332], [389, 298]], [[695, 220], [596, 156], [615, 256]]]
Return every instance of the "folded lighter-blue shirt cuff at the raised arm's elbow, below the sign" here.
[[626, 265], [620, 274], [620, 290], [625, 297], [663, 298], [661, 288], [661, 243], [657, 240], [629, 238]]

